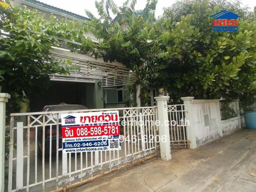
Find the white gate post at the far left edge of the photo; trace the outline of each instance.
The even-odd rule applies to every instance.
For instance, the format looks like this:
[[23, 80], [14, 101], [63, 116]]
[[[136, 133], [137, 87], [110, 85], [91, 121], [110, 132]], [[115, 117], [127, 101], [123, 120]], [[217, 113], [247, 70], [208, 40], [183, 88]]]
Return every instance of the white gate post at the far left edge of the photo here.
[[0, 191], [4, 190], [5, 102], [8, 98], [8, 93], [0, 93]]

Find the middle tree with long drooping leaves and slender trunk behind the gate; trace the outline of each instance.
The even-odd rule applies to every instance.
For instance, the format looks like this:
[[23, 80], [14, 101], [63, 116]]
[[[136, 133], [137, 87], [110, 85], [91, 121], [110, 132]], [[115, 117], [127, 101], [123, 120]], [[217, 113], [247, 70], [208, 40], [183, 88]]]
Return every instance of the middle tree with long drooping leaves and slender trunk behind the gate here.
[[[143, 81], [142, 74], [146, 69], [145, 61], [152, 60], [156, 48], [153, 46], [156, 38], [153, 28], [156, 2], [157, 0], [147, 0], [143, 10], [135, 11], [136, 0], [126, 0], [121, 7], [117, 7], [113, 0], [101, 0], [95, 1], [99, 18], [89, 10], [85, 11], [90, 18], [88, 30], [100, 39], [97, 48], [101, 53], [95, 56], [122, 62], [136, 71], [138, 93], [139, 84]], [[136, 101], [139, 105], [140, 99]]]

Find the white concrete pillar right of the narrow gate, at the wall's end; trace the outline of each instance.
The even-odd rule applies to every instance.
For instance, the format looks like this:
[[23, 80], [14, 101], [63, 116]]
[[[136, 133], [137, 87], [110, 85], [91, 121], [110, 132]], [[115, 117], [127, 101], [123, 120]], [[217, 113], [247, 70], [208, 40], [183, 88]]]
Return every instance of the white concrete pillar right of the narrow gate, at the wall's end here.
[[196, 137], [195, 137], [195, 128], [193, 122], [193, 112], [192, 112], [192, 102], [194, 97], [193, 96], [186, 96], [181, 97], [184, 104], [186, 105], [186, 118], [189, 121], [189, 126], [187, 127], [188, 132], [188, 139], [189, 139], [189, 148], [196, 148]]

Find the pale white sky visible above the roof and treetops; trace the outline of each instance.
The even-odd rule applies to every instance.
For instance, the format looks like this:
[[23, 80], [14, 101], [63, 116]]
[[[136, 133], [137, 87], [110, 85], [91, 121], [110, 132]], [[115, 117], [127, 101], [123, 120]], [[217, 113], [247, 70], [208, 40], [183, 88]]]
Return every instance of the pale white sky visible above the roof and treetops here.
[[[70, 12], [86, 16], [84, 9], [88, 9], [95, 16], [97, 16], [97, 10], [94, 5], [95, 0], [39, 0], [41, 2], [68, 10]], [[98, 0], [99, 1], [99, 0]], [[121, 6], [125, 0], [114, 0], [117, 6]], [[155, 16], [158, 17], [163, 13], [163, 7], [168, 7], [173, 4], [176, 0], [158, 0], [155, 10]], [[235, 0], [229, 0], [235, 1]], [[239, 0], [243, 5], [250, 7], [253, 10], [253, 7], [256, 5], [256, 0]], [[143, 9], [145, 7], [146, 0], [137, 0], [135, 5], [135, 10]]]

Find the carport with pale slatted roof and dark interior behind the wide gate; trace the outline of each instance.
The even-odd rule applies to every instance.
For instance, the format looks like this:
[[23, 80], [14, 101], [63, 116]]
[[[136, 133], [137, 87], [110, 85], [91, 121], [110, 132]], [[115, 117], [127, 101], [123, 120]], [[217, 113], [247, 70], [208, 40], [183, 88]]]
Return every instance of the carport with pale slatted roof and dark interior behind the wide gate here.
[[105, 62], [101, 58], [71, 52], [68, 49], [53, 47], [51, 55], [59, 60], [70, 59], [80, 67], [69, 75], [50, 75], [50, 87], [39, 97], [30, 101], [30, 111], [41, 111], [45, 105], [82, 104], [87, 108], [103, 108], [103, 89], [123, 86], [135, 82], [135, 72], [120, 62]]

